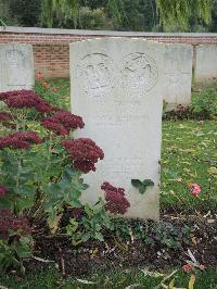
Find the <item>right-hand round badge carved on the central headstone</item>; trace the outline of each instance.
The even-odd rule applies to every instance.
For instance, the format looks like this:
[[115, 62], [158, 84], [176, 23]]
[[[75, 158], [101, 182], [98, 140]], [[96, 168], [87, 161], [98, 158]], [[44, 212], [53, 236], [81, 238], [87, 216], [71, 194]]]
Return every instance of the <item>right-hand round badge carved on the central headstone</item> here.
[[144, 53], [131, 53], [122, 61], [120, 80], [129, 92], [145, 92], [153, 88], [158, 77], [155, 61]]

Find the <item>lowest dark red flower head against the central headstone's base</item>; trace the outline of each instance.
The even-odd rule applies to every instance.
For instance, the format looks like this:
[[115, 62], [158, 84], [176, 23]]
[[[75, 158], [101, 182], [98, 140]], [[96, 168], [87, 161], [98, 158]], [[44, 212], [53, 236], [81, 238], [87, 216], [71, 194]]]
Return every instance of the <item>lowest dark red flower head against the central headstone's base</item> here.
[[105, 210], [113, 214], [124, 215], [130, 206], [125, 197], [125, 190], [113, 187], [110, 183], [103, 183], [101, 189], [105, 191]]

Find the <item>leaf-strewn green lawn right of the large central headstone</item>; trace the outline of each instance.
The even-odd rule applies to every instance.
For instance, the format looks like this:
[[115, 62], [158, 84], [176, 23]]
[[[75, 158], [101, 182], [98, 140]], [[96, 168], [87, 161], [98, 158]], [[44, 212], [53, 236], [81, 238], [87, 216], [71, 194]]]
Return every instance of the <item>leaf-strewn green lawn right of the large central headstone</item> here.
[[[163, 122], [162, 206], [217, 206], [217, 125], [215, 121]], [[188, 185], [202, 186], [193, 198]]]

